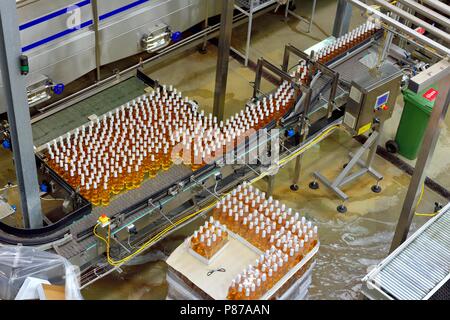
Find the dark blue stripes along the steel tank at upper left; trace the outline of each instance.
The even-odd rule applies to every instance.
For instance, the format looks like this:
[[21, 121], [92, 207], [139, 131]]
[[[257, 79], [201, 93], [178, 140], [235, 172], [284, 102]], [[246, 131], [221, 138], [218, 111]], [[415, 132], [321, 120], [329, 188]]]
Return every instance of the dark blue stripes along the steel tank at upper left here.
[[[124, 12], [124, 11], [127, 11], [127, 10], [129, 10], [129, 9], [131, 9], [131, 8], [137, 7], [138, 5], [141, 5], [141, 4], [146, 3], [146, 2], [149, 2], [149, 1], [150, 1], [150, 0], [138, 0], [138, 1], [134, 1], [134, 2], [132, 2], [132, 3], [130, 3], [130, 4], [127, 4], [127, 5], [123, 6], [123, 7], [117, 8], [117, 9], [111, 11], [111, 12], [108, 12], [108, 13], [105, 13], [105, 14], [99, 16], [99, 19], [100, 19], [100, 20], [105, 20], [105, 19], [107, 19], [107, 18], [110, 18], [110, 17], [112, 17], [112, 16], [115, 16], [115, 15], [117, 15], [117, 14], [119, 14], [119, 13], [122, 13], [122, 12]], [[50, 19], [53, 19], [53, 18], [55, 18], [55, 17], [57, 17], [57, 16], [63, 15], [63, 14], [65, 14], [65, 13], [67, 13], [67, 12], [70, 12], [70, 11], [72, 11], [72, 10], [75, 9], [74, 6], [83, 7], [83, 6], [86, 6], [86, 5], [90, 4], [90, 3], [91, 3], [91, 0], [85, 0], [85, 1], [79, 2], [79, 3], [77, 3], [77, 4], [73, 5], [73, 6], [70, 6], [70, 7], [66, 8], [66, 9], [59, 10], [59, 11], [57, 11], [57, 12], [51, 13], [51, 14], [46, 15], [46, 16], [44, 16], [44, 17], [41, 17], [41, 18], [39, 18], [39, 19], [36, 19], [36, 20], [30, 21], [30, 22], [28, 22], [28, 23], [25, 23], [25, 24], [21, 25], [19, 29], [20, 29], [20, 30], [25, 30], [25, 29], [27, 29], [27, 28], [30, 28], [30, 27], [32, 27], [32, 26], [35, 26], [35, 25], [40, 24], [40, 23], [42, 23], [42, 22], [48, 21], [48, 20], [50, 20]], [[29, 44], [29, 45], [23, 47], [23, 48], [22, 48], [22, 52], [26, 52], [26, 51], [29, 51], [29, 50], [34, 49], [34, 48], [36, 48], [36, 47], [42, 46], [42, 45], [44, 45], [44, 44], [46, 44], [46, 43], [49, 43], [49, 42], [51, 42], [51, 41], [54, 41], [54, 40], [56, 40], [56, 39], [58, 39], [58, 38], [64, 37], [64, 36], [66, 36], [66, 35], [68, 35], [68, 34], [70, 34], [70, 33], [72, 33], [72, 32], [75, 32], [75, 31], [78, 31], [78, 30], [80, 30], [80, 29], [89, 27], [89, 26], [91, 26], [92, 24], [93, 24], [93, 21], [92, 21], [92, 20], [83, 22], [82, 24], [80, 24], [79, 26], [77, 26], [77, 27], [75, 27], [75, 28], [66, 29], [66, 30], [61, 31], [61, 32], [59, 32], [59, 33], [56, 33], [56, 34], [54, 34], [54, 35], [52, 35], [52, 36], [49, 36], [49, 37], [47, 37], [47, 38], [45, 38], [45, 39], [42, 39], [42, 40], [36, 41], [36, 42], [34, 42], [34, 43], [31, 43], [31, 44]]]

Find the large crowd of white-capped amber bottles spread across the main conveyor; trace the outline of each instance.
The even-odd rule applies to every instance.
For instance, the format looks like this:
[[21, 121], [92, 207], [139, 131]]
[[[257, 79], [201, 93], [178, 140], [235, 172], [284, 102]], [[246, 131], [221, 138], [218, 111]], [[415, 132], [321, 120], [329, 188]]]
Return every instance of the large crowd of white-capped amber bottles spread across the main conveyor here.
[[248, 131], [284, 115], [294, 94], [284, 82], [223, 122], [163, 86], [47, 144], [46, 161], [93, 205], [109, 205], [111, 195], [138, 188], [174, 161], [197, 170], [223, 157]]

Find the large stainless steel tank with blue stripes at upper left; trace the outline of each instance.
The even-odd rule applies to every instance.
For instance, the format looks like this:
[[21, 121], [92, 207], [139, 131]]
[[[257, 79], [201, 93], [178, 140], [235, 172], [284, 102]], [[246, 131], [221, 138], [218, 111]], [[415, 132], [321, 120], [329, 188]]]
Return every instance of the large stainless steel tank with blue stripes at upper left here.
[[[70, 83], [95, 69], [92, 0], [18, 0], [22, 51], [29, 57], [29, 86]], [[219, 13], [214, 0], [97, 0], [100, 63], [143, 52], [143, 39], [168, 27], [185, 31]], [[145, 40], [144, 40], [145, 41]], [[147, 44], [148, 48], [148, 44]], [[1, 80], [0, 80], [1, 81]], [[3, 85], [0, 83], [3, 87]], [[0, 92], [0, 113], [6, 111]]]

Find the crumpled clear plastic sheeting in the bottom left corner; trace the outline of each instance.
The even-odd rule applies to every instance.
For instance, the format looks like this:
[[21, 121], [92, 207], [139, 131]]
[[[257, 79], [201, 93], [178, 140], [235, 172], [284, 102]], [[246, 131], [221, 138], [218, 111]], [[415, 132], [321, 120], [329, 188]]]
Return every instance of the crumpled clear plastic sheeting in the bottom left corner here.
[[82, 300], [80, 271], [65, 258], [32, 247], [0, 247], [0, 299], [14, 300], [28, 277], [64, 286], [66, 300]]

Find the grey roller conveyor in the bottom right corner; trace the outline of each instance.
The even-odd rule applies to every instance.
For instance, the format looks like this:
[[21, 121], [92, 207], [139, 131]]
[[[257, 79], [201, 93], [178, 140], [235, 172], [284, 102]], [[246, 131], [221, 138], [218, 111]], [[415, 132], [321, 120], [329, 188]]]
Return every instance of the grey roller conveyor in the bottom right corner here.
[[[398, 300], [449, 297], [450, 204], [364, 279]], [[447, 282], [447, 284], [445, 284]]]

